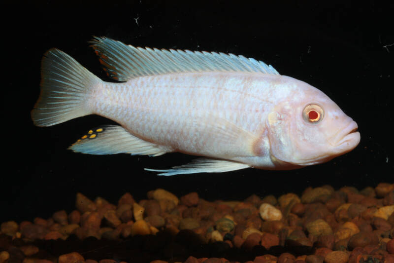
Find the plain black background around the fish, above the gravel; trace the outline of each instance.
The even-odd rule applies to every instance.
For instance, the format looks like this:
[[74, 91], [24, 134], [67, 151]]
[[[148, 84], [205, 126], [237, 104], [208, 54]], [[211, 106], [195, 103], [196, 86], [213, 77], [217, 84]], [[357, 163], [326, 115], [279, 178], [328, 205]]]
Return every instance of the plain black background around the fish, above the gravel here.
[[[82, 2], [82, 1], [81, 1]], [[359, 189], [394, 182], [393, 6], [379, 1], [115, 1], [19, 2], [3, 5], [1, 51], [0, 222], [47, 218], [74, 208], [76, 192], [116, 203], [165, 188], [197, 191], [207, 200], [238, 200], [330, 184]], [[190, 3], [188, 3], [190, 2]], [[293, 171], [156, 176], [144, 167], [189, 162], [160, 157], [76, 154], [66, 148], [89, 129], [112, 121], [90, 115], [35, 127], [40, 60], [57, 47], [109, 80], [87, 41], [106, 36], [135, 46], [242, 54], [321, 89], [359, 124], [361, 143], [328, 163]]]

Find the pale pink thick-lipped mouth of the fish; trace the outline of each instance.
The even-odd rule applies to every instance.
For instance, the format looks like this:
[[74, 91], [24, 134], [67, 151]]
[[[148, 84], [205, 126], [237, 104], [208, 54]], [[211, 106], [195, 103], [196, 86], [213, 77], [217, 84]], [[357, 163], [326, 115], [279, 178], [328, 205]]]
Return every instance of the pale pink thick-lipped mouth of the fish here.
[[338, 134], [339, 140], [335, 144], [335, 153], [344, 154], [356, 148], [360, 143], [360, 132], [358, 132], [357, 123], [352, 120], [341, 132]]

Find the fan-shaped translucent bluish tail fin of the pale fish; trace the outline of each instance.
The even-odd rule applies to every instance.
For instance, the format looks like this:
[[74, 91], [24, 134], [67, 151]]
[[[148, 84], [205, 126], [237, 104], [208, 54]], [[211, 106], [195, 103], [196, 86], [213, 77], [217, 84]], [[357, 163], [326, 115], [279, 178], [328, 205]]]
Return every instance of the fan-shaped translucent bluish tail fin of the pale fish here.
[[41, 94], [32, 119], [37, 126], [51, 126], [88, 115], [89, 90], [101, 80], [59, 49], [48, 50], [41, 64]]

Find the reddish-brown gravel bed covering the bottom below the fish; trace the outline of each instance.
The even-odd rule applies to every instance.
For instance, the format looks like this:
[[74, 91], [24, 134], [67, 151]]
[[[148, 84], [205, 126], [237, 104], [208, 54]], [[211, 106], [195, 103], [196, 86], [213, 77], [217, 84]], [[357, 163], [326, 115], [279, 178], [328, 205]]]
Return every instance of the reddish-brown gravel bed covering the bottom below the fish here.
[[0, 263], [394, 263], [394, 184], [208, 202], [164, 190], [1, 224]]

